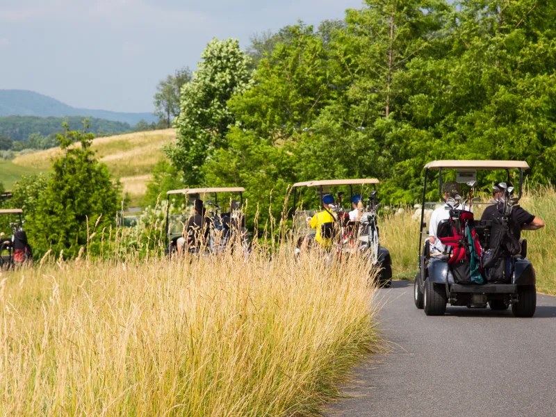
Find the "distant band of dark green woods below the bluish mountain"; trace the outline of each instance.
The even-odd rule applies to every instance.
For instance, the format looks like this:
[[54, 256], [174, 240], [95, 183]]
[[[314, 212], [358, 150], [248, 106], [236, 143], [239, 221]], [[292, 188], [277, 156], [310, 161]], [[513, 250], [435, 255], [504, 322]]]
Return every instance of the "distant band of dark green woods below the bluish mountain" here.
[[[54, 136], [49, 138], [49, 145], [56, 146], [56, 134], [62, 130], [63, 122], [67, 122], [70, 129], [81, 128], [82, 116], [73, 117], [35, 117], [35, 116], [4, 116], [0, 117], [0, 134], [10, 136], [15, 141], [26, 141], [33, 133], [40, 133], [42, 136]], [[131, 126], [127, 123], [113, 122], [111, 120], [91, 118], [89, 120], [91, 133], [99, 136], [99, 133], [123, 133], [131, 131]], [[26, 146], [31, 147], [31, 146]], [[45, 149], [45, 148], [39, 148]]]

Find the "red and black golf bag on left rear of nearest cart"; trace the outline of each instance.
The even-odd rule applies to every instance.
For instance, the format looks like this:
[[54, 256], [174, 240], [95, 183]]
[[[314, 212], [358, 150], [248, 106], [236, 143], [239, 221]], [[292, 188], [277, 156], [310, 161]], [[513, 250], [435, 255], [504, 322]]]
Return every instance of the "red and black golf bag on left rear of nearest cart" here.
[[448, 267], [456, 284], [483, 284], [480, 271], [482, 248], [473, 221], [471, 211], [450, 210], [450, 218], [438, 227], [437, 235], [450, 254]]

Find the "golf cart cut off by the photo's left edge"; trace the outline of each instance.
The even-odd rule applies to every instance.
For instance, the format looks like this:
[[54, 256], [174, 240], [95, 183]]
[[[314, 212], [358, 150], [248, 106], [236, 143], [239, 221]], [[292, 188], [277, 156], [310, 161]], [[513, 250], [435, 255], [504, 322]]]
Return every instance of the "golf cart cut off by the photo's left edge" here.
[[17, 216], [16, 222], [10, 222], [12, 237], [0, 235], [0, 269], [9, 269], [33, 259], [31, 246], [27, 242], [27, 235], [23, 230], [24, 220], [21, 208], [7, 208], [0, 210], [0, 215]]

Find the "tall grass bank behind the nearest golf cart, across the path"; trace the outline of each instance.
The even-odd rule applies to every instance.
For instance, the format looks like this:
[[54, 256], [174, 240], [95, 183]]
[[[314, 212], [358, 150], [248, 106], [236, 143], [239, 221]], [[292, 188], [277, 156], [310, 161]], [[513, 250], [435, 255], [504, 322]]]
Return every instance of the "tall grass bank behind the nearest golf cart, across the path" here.
[[[523, 231], [521, 238], [528, 240], [528, 259], [537, 272], [537, 291], [556, 295], [556, 188], [528, 188], [521, 206], [546, 223], [543, 229]], [[476, 209], [475, 213], [482, 211]], [[418, 272], [419, 220], [412, 219], [413, 214], [414, 210], [407, 210], [380, 219], [381, 243], [392, 255], [394, 279], [414, 279]]]

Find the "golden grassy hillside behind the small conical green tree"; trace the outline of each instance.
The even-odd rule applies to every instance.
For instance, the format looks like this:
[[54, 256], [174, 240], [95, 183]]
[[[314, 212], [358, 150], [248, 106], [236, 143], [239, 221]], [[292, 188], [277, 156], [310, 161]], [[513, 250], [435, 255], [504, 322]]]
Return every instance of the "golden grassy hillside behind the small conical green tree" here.
[[[154, 165], [164, 158], [163, 145], [175, 137], [174, 129], [128, 133], [97, 138], [93, 140], [91, 148], [97, 152], [100, 161], [108, 165], [113, 176], [121, 179], [124, 191], [129, 192], [134, 199], [145, 194]], [[12, 183], [30, 169], [47, 171], [51, 159], [61, 153], [60, 148], [53, 148], [15, 158], [13, 163], [8, 164], [14, 172]], [[21, 174], [18, 176], [19, 172]]]

